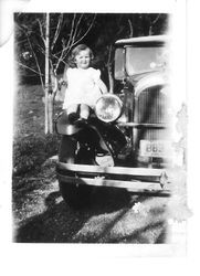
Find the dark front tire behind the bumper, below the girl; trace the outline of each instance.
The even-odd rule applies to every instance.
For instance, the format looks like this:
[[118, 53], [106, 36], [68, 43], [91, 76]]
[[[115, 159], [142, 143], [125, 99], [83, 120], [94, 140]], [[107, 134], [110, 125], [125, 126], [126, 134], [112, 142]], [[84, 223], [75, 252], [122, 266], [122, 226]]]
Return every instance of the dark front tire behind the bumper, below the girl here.
[[[59, 160], [61, 162], [75, 162], [76, 140], [63, 136], [60, 146]], [[59, 181], [60, 192], [65, 203], [73, 209], [85, 208], [91, 203], [91, 193], [93, 187], [87, 184], [75, 184]]]

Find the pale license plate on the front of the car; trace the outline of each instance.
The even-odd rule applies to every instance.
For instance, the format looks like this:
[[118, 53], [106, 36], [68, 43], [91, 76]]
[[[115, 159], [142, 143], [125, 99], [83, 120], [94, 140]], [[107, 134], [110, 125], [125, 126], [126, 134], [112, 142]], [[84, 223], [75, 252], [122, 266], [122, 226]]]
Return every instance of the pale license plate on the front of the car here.
[[171, 147], [165, 140], [140, 140], [140, 156], [145, 157], [169, 157]]

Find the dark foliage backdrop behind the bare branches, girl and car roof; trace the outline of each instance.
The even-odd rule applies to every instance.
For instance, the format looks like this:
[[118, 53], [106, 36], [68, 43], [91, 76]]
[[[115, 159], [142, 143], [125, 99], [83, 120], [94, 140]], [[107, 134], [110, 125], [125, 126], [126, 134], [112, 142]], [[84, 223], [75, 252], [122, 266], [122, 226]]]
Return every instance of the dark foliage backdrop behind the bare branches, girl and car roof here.
[[[61, 18], [59, 35], [52, 46]], [[55, 68], [63, 45], [71, 42], [66, 46], [65, 57], [56, 68], [56, 74], [62, 74], [71, 49], [78, 43], [85, 43], [94, 52], [94, 67], [101, 68], [102, 77], [108, 84], [107, 72], [108, 66], [113, 66], [115, 41], [131, 36], [164, 34], [168, 31], [169, 19], [168, 13], [50, 13], [51, 66]], [[14, 23], [15, 61], [20, 82], [40, 83], [40, 76], [35, 72], [39, 65], [42, 77], [44, 76], [45, 55], [42, 36], [45, 34], [45, 13], [15, 13]], [[74, 42], [70, 41], [73, 29]], [[35, 59], [38, 59], [38, 65]]]

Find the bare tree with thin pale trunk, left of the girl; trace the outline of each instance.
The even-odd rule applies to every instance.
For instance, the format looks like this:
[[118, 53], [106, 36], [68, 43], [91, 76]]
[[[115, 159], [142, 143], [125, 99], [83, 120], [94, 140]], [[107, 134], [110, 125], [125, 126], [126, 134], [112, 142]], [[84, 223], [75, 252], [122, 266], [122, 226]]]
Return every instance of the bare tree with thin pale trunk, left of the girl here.
[[[24, 14], [23, 23], [17, 21], [17, 28], [21, 32], [21, 38], [25, 40], [27, 50], [34, 61], [27, 64], [22, 59], [18, 61], [18, 64], [38, 74], [44, 91], [45, 134], [53, 132], [53, 103], [57, 88], [57, 71], [66, 66], [71, 49], [88, 34], [95, 18], [96, 14], [46, 13], [32, 14], [32, 21]], [[42, 60], [45, 61], [45, 66]]]

